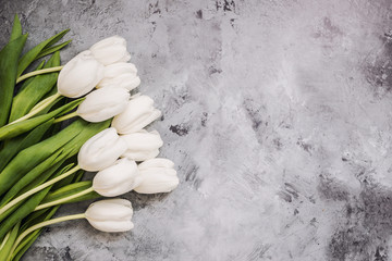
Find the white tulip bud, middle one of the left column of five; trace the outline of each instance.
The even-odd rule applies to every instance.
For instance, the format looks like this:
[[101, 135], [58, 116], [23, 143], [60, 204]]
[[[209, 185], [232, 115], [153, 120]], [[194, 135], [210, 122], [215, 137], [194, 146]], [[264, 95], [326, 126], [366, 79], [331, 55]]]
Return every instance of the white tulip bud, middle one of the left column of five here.
[[77, 154], [78, 165], [85, 171], [101, 171], [114, 163], [126, 150], [115, 128], [107, 128], [89, 138]]

